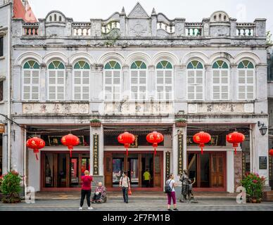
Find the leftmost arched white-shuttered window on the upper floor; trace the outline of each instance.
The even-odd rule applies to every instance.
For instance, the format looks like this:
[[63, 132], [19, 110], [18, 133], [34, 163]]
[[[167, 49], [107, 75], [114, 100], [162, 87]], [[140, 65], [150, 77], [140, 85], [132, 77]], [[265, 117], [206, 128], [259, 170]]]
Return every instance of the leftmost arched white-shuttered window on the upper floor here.
[[39, 100], [39, 64], [28, 60], [23, 66], [23, 100]]

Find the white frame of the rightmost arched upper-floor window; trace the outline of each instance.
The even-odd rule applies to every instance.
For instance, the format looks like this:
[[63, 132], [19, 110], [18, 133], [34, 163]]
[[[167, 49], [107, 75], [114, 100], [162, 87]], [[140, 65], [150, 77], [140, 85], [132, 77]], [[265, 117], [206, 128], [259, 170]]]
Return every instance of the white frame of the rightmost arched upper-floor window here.
[[[239, 68], [239, 64], [243, 63], [243, 60], [244, 59], [240, 60], [239, 63], [238, 63], [238, 65], [237, 65], [237, 80], [238, 80], [238, 84], [237, 84], [237, 99], [239, 101], [253, 101], [256, 98], [256, 94], [255, 94], [255, 92], [256, 92], [256, 86], [255, 86], [256, 85], [256, 82], [255, 82], [255, 79], [256, 79], [255, 63], [253, 63], [251, 60], [246, 59], [246, 60], [248, 60], [249, 63], [253, 64], [253, 68]], [[239, 71], [243, 71], [244, 72], [244, 79], [245, 79], [244, 85], [240, 85], [239, 84]], [[247, 72], [248, 71], [253, 71], [253, 84], [251, 84], [251, 85], [247, 84], [247, 76], [248, 76]], [[245, 98], [239, 98], [239, 86], [244, 86], [245, 87], [245, 91], [244, 91]], [[253, 86], [253, 98], [247, 98], [247, 96], [248, 96], [247, 87], [248, 86]]]

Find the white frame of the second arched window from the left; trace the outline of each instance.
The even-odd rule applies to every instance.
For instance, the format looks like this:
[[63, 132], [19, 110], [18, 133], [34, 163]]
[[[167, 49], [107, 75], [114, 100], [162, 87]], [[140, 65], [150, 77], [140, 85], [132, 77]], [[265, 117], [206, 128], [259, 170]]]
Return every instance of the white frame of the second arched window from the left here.
[[[59, 61], [60, 63], [63, 63], [61, 60], [52, 60], [50, 63], [49, 63], [49, 65], [51, 64], [51, 63], [53, 63], [54, 61]], [[46, 74], [47, 74], [47, 100], [48, 101], [65, 101], [65, 93], [66, 93], [66, 88], [65, 88], [65, 86], [66, 86], [66, 77], [65, 77], [65, 64], [63, 63], [63, 66], [64, 66], [64, 69], [49, 69], [49, 65], [47, 66], [47, 72], [46, 72]], [[50, 71], [54, 71], [55, 72], [55, 76], [57, 77], [57, 73], [58, 73], [58, 71], [63, 71], [63, 85], [61, 85], [61, 84], [56, 84], [56, 82], [55, 82], [55, 84], [49, 84], [49, 72]], [[56, 78], [56, 80], [57, 80], [57, 78]], [[62, 100], [60, 100], [60, 99], [58, 99], [58, 98], [56, 98], [56, 97], [58, 97], [58, 91], [56, 91], [55, 92], [55, 98], [54, 99], [50, 99], [49, 98], [49, 94], [50, 94], [50, 92], [49, 92], [49, 87], [50, 86], [56, 86], [56, 87], [58, 87], [58, 86], [63, 86], [63, 99]]]

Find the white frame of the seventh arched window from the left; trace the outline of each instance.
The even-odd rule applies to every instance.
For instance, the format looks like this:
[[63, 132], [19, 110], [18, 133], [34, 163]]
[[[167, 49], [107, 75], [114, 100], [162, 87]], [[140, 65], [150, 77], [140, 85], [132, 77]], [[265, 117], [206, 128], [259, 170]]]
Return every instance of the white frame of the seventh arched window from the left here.
[[[200, 60], [190, 60], [189, 63], [191, 63], [192, 61], [198, 61], [198, 63], [201, 63]], [[186, 100], [187, 101], [204, 101], [205, 99], [205, 67], [204, 64], [201, 63], [202, 65], [202, 69], [198, 69], [198, 68], [188, 68], [189, 63], [186, 64]], [[189, 84], [189, 71], [193, 71], [194, 72], [194, 84]], [[202, 84], [196, 84], [196, 72], [197, 71], [202, 71]], [[194, 86], [194, 99], [190, 99], [189, 98], [189, 85], [190, 86]], [[196, 86], [202, 86], [202, 99], [196, 99]]]

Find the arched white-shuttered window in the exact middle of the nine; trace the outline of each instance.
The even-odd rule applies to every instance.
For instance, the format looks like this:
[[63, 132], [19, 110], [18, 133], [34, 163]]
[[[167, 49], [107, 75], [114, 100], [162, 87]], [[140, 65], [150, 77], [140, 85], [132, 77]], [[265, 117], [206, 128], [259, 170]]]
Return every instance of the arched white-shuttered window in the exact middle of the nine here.
[[137, 60], [131, 65], [131, 98], [134, 100], [144, 100], [147, 97], [147, 66]]

